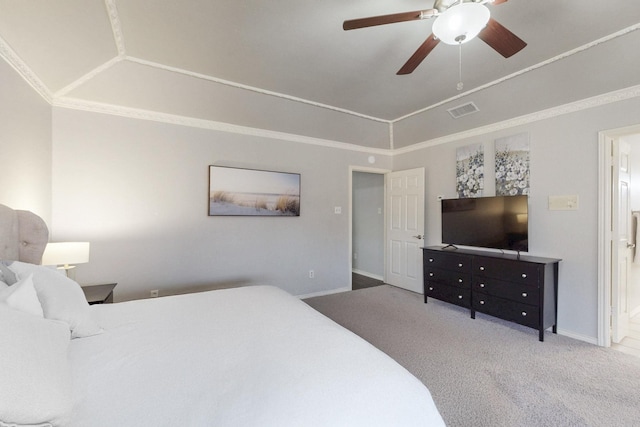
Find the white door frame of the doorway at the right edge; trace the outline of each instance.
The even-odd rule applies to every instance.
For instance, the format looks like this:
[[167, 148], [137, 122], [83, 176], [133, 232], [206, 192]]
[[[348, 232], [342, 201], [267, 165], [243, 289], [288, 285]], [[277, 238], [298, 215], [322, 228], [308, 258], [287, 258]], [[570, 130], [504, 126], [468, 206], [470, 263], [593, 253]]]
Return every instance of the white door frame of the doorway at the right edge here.
[[[611, 255], [613, 144], [623, 136], [640, 133], [640, 124], [598, 132], [598, 345], [611, 346]], [[615, 248], [615, 249], [612, 249]]]

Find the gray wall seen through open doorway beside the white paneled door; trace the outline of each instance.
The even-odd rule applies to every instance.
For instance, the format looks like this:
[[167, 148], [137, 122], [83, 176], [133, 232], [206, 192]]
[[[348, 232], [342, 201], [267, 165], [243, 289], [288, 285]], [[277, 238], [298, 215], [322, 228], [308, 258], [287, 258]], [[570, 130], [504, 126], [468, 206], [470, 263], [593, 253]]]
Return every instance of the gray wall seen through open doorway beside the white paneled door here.
[[353, 270], [384, 277], [384, 175], [353, 172]]

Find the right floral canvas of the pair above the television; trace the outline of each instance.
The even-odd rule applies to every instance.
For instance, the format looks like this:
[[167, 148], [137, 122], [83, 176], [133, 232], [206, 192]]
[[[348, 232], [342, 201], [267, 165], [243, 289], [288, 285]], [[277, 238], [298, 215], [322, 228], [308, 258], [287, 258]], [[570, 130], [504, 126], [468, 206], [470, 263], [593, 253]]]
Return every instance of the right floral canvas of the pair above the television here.
[[529, 135], [496, 139], [496, 195], [529, 194]]

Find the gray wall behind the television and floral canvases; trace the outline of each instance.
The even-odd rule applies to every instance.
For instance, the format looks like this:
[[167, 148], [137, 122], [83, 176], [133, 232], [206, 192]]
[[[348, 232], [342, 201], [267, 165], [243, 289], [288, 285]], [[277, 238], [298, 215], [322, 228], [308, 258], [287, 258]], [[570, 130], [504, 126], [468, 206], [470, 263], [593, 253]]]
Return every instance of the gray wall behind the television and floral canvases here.
[[[485, 148], [485, 195], [495, 191], [494, 140], [529, 134], [531, 195], [529, 252], [562, 258], [558, 328], [595, 342], [598, 325], [598, 132], [638, 123], [640, 99], [629, 99], [437, 145], [394, 157], [394, 170], [426, 169], [425, 234], [427, 244], [441, 242], [438, 195], [455, 195], [456, 148], [482, 143]], [[579, 209], [551, 211], [548, 197], [578, 195]]]

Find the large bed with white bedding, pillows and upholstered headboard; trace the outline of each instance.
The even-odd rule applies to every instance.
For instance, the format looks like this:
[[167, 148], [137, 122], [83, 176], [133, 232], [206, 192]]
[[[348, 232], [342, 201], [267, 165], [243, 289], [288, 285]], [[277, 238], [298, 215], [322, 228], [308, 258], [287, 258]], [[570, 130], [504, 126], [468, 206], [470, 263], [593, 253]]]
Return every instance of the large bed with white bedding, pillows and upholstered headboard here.
[[0, 205], [0, 426], [444, 425], [418, 379], [277, 287], [89, 306], [24, 212]]

